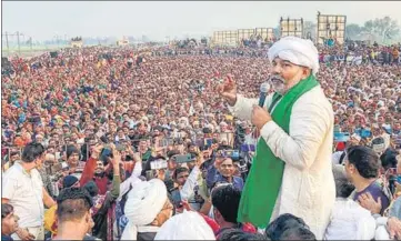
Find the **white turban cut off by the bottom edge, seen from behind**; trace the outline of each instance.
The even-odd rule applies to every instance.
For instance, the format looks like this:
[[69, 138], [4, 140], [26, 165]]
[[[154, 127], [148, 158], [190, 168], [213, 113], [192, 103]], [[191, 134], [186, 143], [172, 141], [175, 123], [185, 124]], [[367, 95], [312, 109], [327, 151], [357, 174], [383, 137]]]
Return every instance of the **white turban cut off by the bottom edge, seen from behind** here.
[[215, 237], [200, 214], [184, 211], [167, 220], [154, 240], [215, 240]]

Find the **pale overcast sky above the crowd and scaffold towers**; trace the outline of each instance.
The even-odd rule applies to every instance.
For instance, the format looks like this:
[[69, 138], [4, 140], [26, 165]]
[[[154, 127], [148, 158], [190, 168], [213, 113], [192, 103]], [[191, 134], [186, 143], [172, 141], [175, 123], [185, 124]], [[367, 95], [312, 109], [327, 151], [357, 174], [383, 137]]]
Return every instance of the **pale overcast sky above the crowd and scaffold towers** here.
[[401, 23], [397, 1], [2, 1], [2, 31], [23, 32], [34, 40], [54, 36], [122, 36], [164, 40], [211, 34], [214, 30], [277, 27], [280, 17], [315, 21], [322, 14], [345, 14], [348, 23], [390, 16]]

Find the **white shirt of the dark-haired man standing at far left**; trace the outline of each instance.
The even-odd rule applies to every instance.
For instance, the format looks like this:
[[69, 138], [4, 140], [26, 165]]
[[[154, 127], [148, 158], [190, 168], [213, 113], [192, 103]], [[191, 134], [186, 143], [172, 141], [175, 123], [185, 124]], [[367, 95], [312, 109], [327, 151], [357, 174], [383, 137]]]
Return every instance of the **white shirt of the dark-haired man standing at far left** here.
[[8, 169], [2, 179], [2, 197], [14, 207], [22, 228], [43, 224], [43, 182], [37, 169], [28, 173], [19, 162]]

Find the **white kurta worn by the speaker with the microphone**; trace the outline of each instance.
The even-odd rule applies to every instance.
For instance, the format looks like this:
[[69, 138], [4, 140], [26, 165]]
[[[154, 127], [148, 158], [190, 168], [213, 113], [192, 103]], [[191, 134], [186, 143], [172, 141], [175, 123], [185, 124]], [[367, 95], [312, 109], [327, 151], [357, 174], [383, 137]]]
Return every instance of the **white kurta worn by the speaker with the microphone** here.
[[[270, 107], [272, 96], [267, 98], [264, 108]], [[231, 111], [240, 119], [250, 120], [253, 104], [258, 100], [239, 96]], [[292, 213], [305, 221], [318, 240], [323, 238], [335, 201], [331, 160], [333, 117], [332, 106], [318, 86], [293, 104], [290, 135], [273, 121], [261, 129], [261, 137], [272, 152], [285, 162], [271, 221]]]

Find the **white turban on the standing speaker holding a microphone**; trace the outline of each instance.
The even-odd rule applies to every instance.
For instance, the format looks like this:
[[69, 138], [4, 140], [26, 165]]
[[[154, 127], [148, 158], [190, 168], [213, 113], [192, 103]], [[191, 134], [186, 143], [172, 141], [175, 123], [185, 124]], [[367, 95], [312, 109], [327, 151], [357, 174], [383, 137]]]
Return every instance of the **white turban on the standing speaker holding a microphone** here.
[[319, 71], [319, 52], [311, 40], [285, 37], [275, 42], [268, 52], [270, 62], [275, 58], [309, 67], [313, 76]]

